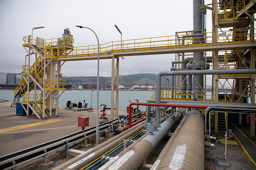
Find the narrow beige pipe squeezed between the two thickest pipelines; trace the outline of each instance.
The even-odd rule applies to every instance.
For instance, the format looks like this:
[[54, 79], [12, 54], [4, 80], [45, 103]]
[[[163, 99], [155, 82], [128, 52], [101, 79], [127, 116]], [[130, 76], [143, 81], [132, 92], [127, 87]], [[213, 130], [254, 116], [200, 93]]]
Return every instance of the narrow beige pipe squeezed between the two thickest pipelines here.
[[164, 158], [166, 152], [169, 150], [170, 146], [172, 145], [172, 142], [175, 140], [176, 136], [178, 135], [179, 131], [181, 130], [181, 127], [183, 126], [183, 124], [185, 123], [187, 116], [189, 115], [186, 114], [180, 124], [178, 125], [178, 127], [175, 129], [174, 133], [172, 134], [172, 137], [168, 140], [168, 142], [166, 143], [165, 147], [162, 149], [161, 153], [159, 154], [159, 156], [157, 157], [156, 161], [154, 162], [154, 164], [152, 165], [150, 170], [156, 170], [156, 168], [158, 167], [159, 163], [161, 162], [162, 158]]

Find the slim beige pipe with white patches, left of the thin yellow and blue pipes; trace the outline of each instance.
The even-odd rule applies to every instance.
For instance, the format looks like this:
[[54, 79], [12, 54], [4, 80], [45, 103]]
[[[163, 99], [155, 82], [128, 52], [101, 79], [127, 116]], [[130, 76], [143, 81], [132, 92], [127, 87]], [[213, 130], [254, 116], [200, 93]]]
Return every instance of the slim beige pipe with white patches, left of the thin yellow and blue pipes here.
[[[112, 137], [111, 139], [105, 141], [104, 143], [101, 143], [98, 146], [95, 146], [94, 148], [84, 152], [81, 155], [76, 156], [75, 158], [70, 159], [69, 161], [66, 161], [64, 164], [61, 164], [55, 168], [53, 168], [53, 170], [63, 170], [66, 167], [69, 167], [72, 164], [80, 164], [80, 161], [83, 159], [86, 159], [88, 156], [90, 155], [95, 155], [95, 152], [97, 152], [98, 150], [103, 151], [103, 150], [107, 150], [109, 148], [113, 148], [114, 146], [116, 146], [119, 141], [123, 140], [123, 139], [127, 139], [128, 137], [130, 137], [132, 134], [137, 133], [138, 131], [140, 131], [143, 128], [142, 126], [142, 122], [131, 127], [130, 129], [128, 129], [127, 131], [122, 132], [121, 134], [118, 134], [115, 137]], [[68, 168], [68, 169], [72, 169], [72, 168]]]

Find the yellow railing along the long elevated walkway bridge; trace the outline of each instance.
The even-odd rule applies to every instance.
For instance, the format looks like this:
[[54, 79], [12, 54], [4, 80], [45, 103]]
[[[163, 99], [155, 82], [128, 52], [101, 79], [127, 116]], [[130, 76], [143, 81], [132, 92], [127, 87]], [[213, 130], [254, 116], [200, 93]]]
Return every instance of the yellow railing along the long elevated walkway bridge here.
[[[248, 32], [248, 31], [247, 31]], [[218, 38], [218, 43], [234, 43], [235, 39], [233, 38], [232, 31], [226, 31], [224, 34], [218, 32], [218, 36], [212, 36], [213, 32], [205, 33], [204, 37], [186, 37], [184, 38], [184, 44], [177, 45], [177, 41], [182, 39], [177, 39], [176, 36], [160, 36], [153, 38], [144, 38], [144, 39], [130, 39], [121, 41], [113, 41], [100, 45], [100, 54], [106, 54], [108, 52], [117, 52], [117, 51], [131, 51], [131, 50], [141, 50], [141, 49], [160, 49], [160, 48], [172, 48], [178, 46], [198, 46], [198, 45], [208, 45], [212, 44], [215, 38]], [[196, 34], [196, 33], [195, 33]], [[198, 34], [198, 33], [197, 33]], [[200, 34], [200, 33], [199, 33]], [[247, 33], [248, 34], [248, 33]], [[180, 35], [182, 36], [182, 35]], [[184, 34], [187, 36], [187, 34]], [[253, 35], [254, 36], [254, 35]], [[247, 40], [239, 42], [251, 42], [250, 35], [247, 35]], [[204, 38], [204, 39], [202, 39]], [[26, 38], [25, 42], [28, 40]], [[193, 39], [197, 39], [197, 44], [193, 44]], [[51, 45], [56, 44], [58, 41], [51, 39], [49, 40]], [[28, 42], [27, 42], [28, 43]], [[238, 42], [235, 42], [238, 43]], [[46, 43], [47, 44], [47, 43]], [[122, 46], [121, 46], [122, 45]], [[48, 46], [48, 45], [46, 45]], [[48, 49], [50, 50], [50, 49]], [[50, 52], [50, 51], [49, 51]], [[58, 48], [57, 57], [66, 57], [66, 56], [79, 56], [79, 55], [97, 55], [98, 48], [97, 45], [93, 46], [79, 46], [70, 48]]]

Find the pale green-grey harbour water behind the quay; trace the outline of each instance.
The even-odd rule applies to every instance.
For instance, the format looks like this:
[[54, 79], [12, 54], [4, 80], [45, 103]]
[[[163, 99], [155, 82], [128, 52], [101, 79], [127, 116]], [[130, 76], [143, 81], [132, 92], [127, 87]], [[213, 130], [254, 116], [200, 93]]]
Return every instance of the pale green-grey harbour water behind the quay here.
[[[37, 91], [39, 92], [39, 91]], [[33, 94], [34, 91], [31, 91], [30, 94]], [[59, 91], [59, 94], [61, 94], [62, 91]], [[136, 100], [139, 100], [139, 102], [146, 103], [147, 99], [150, 99], [150, 97], [153, 95], [154, 91], [119, 91], [119, 109], [120, 110], [126, 110], [127, 106], [129, 106], [131, 102], [137, 102]], [[116, 91], [115, 94], [115, 100], [116, 100]], [[13, 90], [0, 90], [0, 100], [9, 100], [13, 101]], [[59, 106], [66, 106], [68, 101], [71, 101], [72, 103], [78, 103], [78, 101], [81, 101], [84, 105], [85, 103], [88, 103], [87, 107], [93, 107], [96, 108], [97, 106], [97, 91], [91, 91], [91, 90], [66, 90], [64, 93], [59, 97]], [[91, 102], [92, 100], [92, 102]], [[106, 104], [108, 108], [111, 107], [111, 91], [109, 90], [100, 90], [99, 91], [99, 108], [103, 108], [103, 106], [100, 106], [101, 104]], [[137, 106], [133, 106], [134, 108]], [[139, 109], [141, 111], [146, 110], [146, 106], [139, 106]]]

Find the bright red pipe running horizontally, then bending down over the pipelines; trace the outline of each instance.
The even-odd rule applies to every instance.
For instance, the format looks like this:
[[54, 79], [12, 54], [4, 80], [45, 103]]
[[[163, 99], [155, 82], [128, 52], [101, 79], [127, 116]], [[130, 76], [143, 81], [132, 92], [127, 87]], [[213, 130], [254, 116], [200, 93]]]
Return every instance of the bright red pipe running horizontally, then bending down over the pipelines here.
[[[182, 107], [182, 108], [198, 108], [198, 109], [206, 109], [208, 106], [199, 106], [199, 105], [186, 105], [186, 104], [165, 104], [165, 103], [135, 103], [132, 102], [128, 106], [128, 126], [124, 127], [123, 130], [132, 127], [131, 124], [131, 106], [132, 105], [140, 105], [140, 106], [169, 106], [169, 107]], [[137, 122], [137, 121], [136, 121]], [[134, 123], [136, 123], [134, 122]]]

